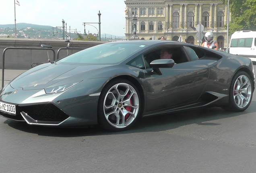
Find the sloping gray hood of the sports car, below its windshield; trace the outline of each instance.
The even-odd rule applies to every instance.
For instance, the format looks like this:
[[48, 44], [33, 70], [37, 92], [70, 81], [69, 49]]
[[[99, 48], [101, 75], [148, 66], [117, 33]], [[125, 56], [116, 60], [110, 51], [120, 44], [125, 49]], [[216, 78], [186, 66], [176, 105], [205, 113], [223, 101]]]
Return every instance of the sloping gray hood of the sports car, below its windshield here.
[[[23, 90], [37, 90], [44, 89], [50, 86], [54, 86], [56, 82], [61, 80], [67, 80], [68, 82], [74, 82], [72, 76], [87, 73], [91, 70], [103, 68], [109, 65], [89, 65], [89, 66], [74, 66], [74, 65], [60, 65], [60, 64], [43, 64], [30, 70], [27, 70], [14, 80], [10, 82], [12, 88], [23, 88]], [[89, 78], [85, 74], [84, 78]], [[84, 78], [81, 78], [83, 80]], [[67, 82], [65, 80], [65, 82]]]

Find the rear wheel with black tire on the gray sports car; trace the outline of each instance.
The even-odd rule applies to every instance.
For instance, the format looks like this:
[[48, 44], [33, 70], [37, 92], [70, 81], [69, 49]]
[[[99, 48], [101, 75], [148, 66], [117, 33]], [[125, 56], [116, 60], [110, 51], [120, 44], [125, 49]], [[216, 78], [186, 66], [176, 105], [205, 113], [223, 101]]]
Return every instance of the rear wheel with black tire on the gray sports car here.
[[241, 71], [235, 74], [229, 89], [229, 105], [224, 109], [229, 111], [245, 111], [252, 101], [252, 79], [248, 73]]

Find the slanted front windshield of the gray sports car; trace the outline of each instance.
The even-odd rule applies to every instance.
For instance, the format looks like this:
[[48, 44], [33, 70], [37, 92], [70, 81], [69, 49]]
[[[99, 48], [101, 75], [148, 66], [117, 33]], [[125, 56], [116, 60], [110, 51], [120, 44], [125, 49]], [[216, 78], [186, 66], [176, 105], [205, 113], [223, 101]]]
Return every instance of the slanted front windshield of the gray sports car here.
[[117, 64], [147, 46], [129, 42], [100, 44], [60, 59], [57, 63]]

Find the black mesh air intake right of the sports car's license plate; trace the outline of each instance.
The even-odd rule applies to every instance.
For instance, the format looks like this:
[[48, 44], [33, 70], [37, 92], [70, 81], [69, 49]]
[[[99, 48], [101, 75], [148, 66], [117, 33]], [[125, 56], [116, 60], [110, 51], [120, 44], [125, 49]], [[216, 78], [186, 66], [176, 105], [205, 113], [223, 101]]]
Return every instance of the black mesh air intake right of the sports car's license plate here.
[[53, 104], [26, 106], [20, 109], [37, 121], [64, 121], [68, 118], [66, 113]]

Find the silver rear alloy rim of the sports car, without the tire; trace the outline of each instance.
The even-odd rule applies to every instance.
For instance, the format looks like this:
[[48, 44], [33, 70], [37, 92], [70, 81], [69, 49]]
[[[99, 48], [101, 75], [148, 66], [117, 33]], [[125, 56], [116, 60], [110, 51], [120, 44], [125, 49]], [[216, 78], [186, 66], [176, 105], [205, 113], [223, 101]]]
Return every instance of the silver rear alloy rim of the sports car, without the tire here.
[[239, 76], [233, 87], [233, 99], [237, 107], [246, 107], [250, 103], [251, 95], [252, 85], [249, 78], [245, 75]]

